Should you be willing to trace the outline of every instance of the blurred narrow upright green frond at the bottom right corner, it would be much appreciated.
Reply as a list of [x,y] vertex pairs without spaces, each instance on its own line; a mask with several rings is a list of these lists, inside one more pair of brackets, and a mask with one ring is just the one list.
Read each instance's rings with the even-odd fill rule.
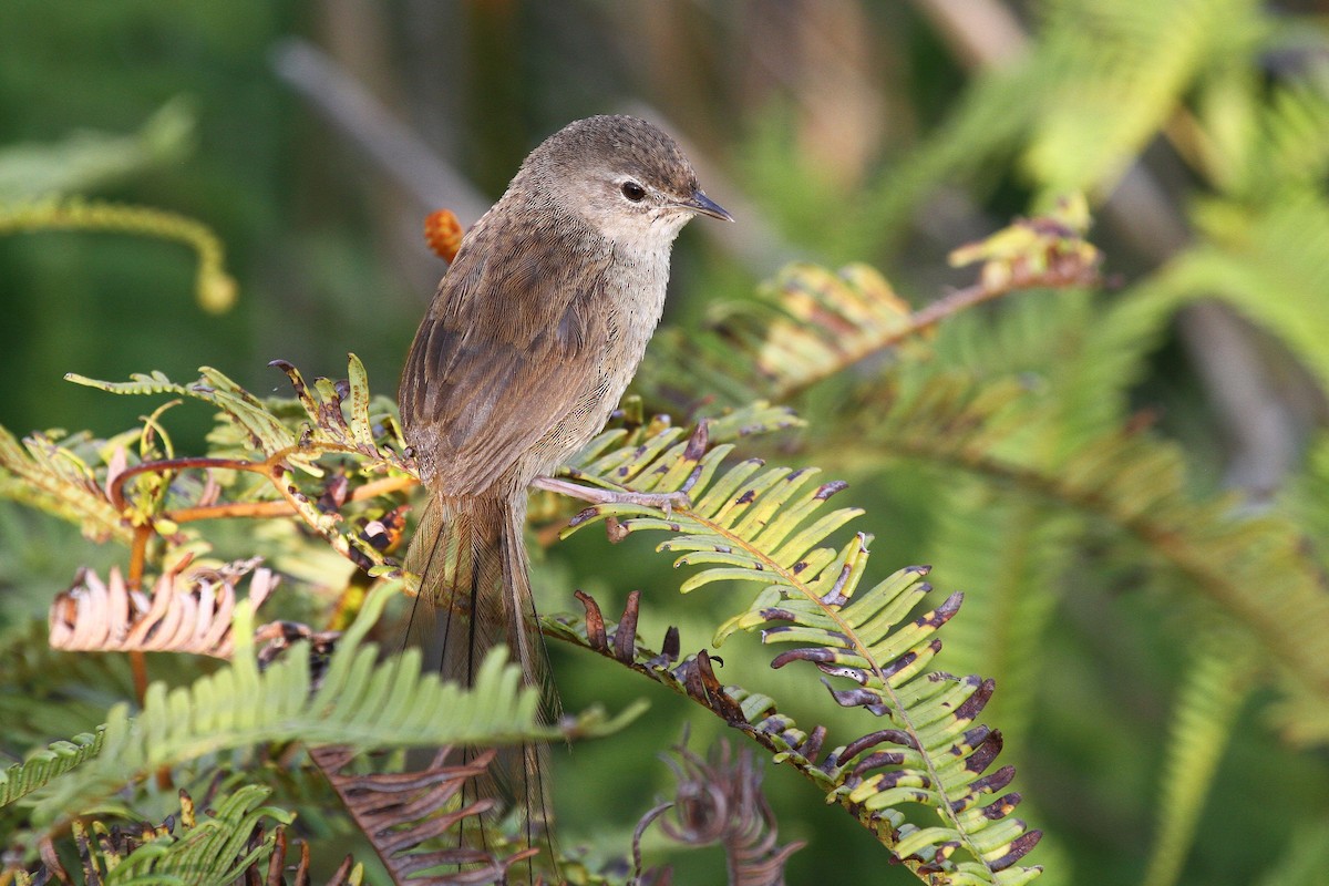
[[1229,632],[1215,631],[1197,644],[1172,715],[1159,824],[1144,886],[1177,882],[1204,797],[1255,683],[1257,664],[1244,638]]

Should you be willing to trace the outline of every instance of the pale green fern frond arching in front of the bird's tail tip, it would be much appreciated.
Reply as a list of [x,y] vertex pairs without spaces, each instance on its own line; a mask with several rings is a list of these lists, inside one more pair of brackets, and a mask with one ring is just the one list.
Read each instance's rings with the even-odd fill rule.
[[380,662],[376,647],[364,638],[397,590],[384,584],[368,596],[360,616],[320,667],[316,685],[307,643],[259,668],[251,607],[237,604],[231,664],[175,689],[153,683],[137,716],[125,704],[112,708],[102,753],[53,780],[35,820],[58,820],[149,772],[255,743],[489,747],[603,735],[639,712],[629,709],[607,721],[593,709],[558,727],[542,725],[536,713],[538,693],[521,684],[520,669],[508,664],[501,647],[485,659],[470,689],[421,673],[413,650]]

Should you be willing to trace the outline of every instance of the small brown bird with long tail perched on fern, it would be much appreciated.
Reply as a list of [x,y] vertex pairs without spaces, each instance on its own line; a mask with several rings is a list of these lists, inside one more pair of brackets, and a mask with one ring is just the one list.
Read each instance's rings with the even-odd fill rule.
[[[526,491],[618,404],[661,319],[674,238],[698,214],[734,221],[672,138],[633,117],[590,117],[536,147],[462,239],[399,395],[432,497],[408,567],[433,607],[427,648],[444,677],[469,684],[506,642],[554,716]],[[526,749],[520,769],[509,793],[544,817],[538,754]]]

